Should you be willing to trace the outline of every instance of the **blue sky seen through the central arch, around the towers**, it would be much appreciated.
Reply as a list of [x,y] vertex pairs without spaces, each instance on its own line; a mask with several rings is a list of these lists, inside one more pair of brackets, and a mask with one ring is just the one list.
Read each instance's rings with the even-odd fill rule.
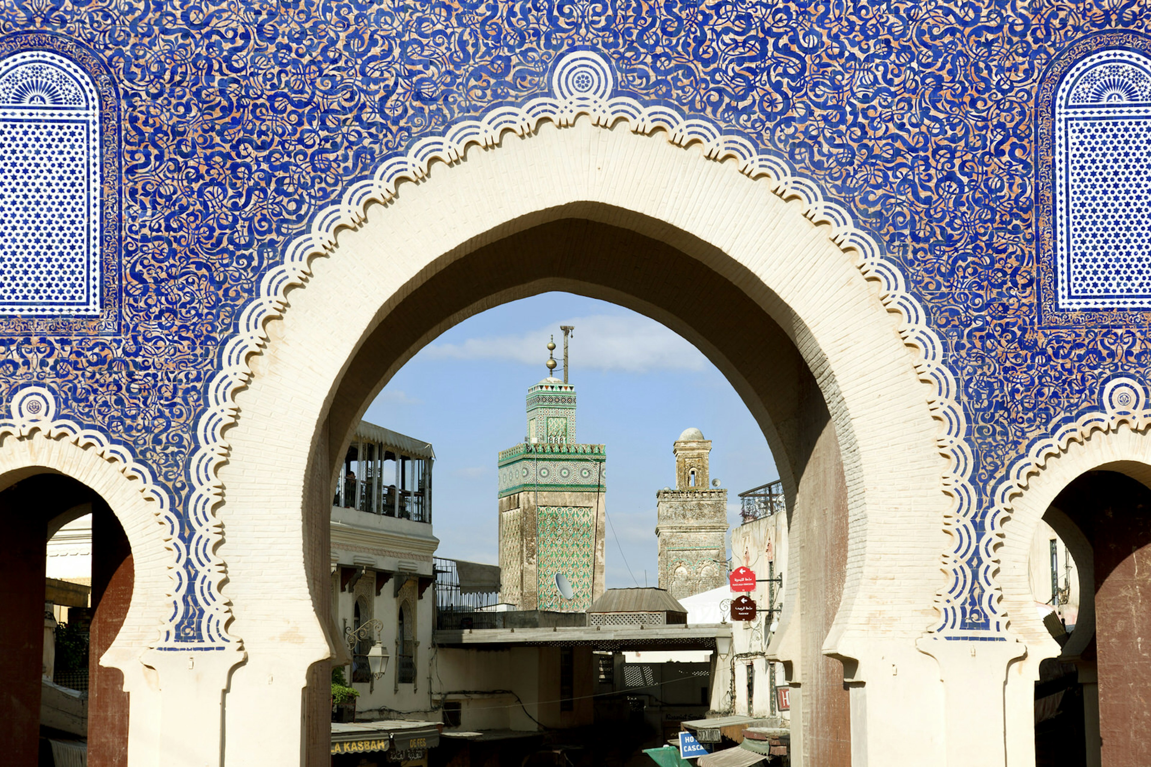
[[643,585],[647,570],[656,585],[655,493],[674,485],[671,446],[684,429],[712,440],[711,476],[727,488],[733,524],[737,494],[777,477],[763,432],[731,384],[662,324],[571,293],[504,304],[424,347],[365,419],[435,447],[439,555],[496,563],[496,453],[524,439],[524,396],[547,375],[552,333],[562,359],[562,324],[576,327],[578,439],[608,448],[607,584]]

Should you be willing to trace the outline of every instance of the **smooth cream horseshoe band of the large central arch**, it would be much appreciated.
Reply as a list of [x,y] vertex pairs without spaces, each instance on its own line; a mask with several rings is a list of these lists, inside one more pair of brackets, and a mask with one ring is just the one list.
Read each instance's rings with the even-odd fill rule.
[[[310,649],[303,654],[326,654],[299,555],[306,536],[295,522],[285,528],[282,514],[315,492],[305,476],[315,440],[346,439],[323,429],[364,339],[397,302],[477,248],[559,217],[580,217],[638,231],[703,262],[785,329],[829,405],[847,473],[847,585],[826,649],[860,659],[870,654],[872,641],[898,638],[906,644],[900,661],[908,676],[920,669],[931,677],[931,661],[912,642],[932,622],[944,581],[939,553],[951,501],[943,492],[944,429],[933,417],[940,396],[920,381],[930,374],[916,370],[920,331],[900,323],[898,307],[885,306],[878,284],[861,273],[859,254],[838,246],[832,229],[813,223],[801,204],[777,190],[733,162],[709,159],[699,146],[581,118],[505,135],[496,147],[473,146],[452,166],[435,164],[419,183],[402,186],[387,205],[369,206],[356,229],[342,230],[330,253],[310,262],[304,286],[287,291],[282,317],[266,322],[267,342],[249,359],[251,377],[236,396],[236,424],[226,432],[230,453],[219,471],[226,540],[219,553],[233,578],[224,590],[236,605],[233,631],[253,657],[253,647],[273,642],[284,622],[300,631],[300,651]],[[464,316],[556,289],[616,300],[663,321],[696,343],[746,397],[739,360],[717,355],[689,323],[646,305],[642,296],[597,286],[595,275],[585,285],[533,284],[478,296],[467,310],[443,317],[391,371]],[[386,381],[373,381],[373,391]],[[369,399],[357,404],[359,413]],[[764,425],[771,439],[771,424]],[[898,545],[898,558],[882,555],[889,545]],[[273,590],[295,612],[266,603],[273,616],[259,607]],[[856,680],[866,678],[867,666],[856,667]],[[887,683],[881,676],[875,687]]]

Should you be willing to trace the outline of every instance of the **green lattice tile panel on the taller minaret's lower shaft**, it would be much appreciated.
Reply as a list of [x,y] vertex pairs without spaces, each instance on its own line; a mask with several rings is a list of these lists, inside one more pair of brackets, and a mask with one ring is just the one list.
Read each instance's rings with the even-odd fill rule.
[[[536,526],[539,609],[587,609],[595,577],[595,509],[540,506]],[[571,583],[571,599],[564,599],[556,588],[556,573],[563,573]]]

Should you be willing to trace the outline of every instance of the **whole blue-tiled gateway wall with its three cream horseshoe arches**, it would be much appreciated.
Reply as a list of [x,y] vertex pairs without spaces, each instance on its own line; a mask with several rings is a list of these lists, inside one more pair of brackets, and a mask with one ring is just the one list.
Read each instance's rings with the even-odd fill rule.
[[[10,764],[44,537],[82,508],[92,764],[327,764],[356,425],[435,335],[546,290],[669,324],[763,428],[792,764],[1151,764],[1149,28],[1110,0],[3,3]],[[426,672],[433,708],[470,689]],[[532,722],[574,722],[538,692]]]

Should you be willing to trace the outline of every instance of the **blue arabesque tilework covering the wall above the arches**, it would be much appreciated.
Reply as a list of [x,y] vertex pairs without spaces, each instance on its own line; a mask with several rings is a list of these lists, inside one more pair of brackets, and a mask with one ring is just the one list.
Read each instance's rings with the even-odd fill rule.
[[[960,381],[983,526],[990,489],[1050,424],[1096,407],[1116,375],[1148,379],[1146,235],[1111,229],[1122,210],[1148,218],[1146,169],[1116,174],[1128,159],[1115,149],[1146,158],[1145,101],[1130,75],[1145,61],[1110,51],[1145,54],[1149,22],[1138,3],[1030,0],[9,0],[0,54],[54,52],[99,101],[87,148],[39,107],[25,109],[38,121],[29,146],[71,146],[60,162],[98,156],[99,172],[52,238],[64,261],[84,253],[83,279],[36,248],[22,250],[29,263],[68,274],[18,274],[17,244],[3,245],[0,396],[31,384],[58,392],[61,417],[129,447],[189,514],[206,382],[287,244],[391,153],[544,93],[557,56],[582,48],[610,62],[616,92],[674,105],[786,159],[901,266]],[[1093,55],[1129,64],[1114,70],[1136,90],[1127,112],[1104,114],[1118,107],[1077,102],[1075,90],[1060,101],[1067,74]],[[0,143],[10,143],[13,105],[30,105],[3,103]],[[1074,115],[1085,120],[1066,122]],[[26,174],[31,151],[5,158]],[[73,205],[60,199],[66,170],[32,170],[36,205]],[[1098,192],[1102,172],[1112,179]],[[0,213],[16,215],[3,184]],[[1076,214],[1070,202],[1097,192],[1098,215]],[[96,222],[96,245],[78,233],[82,220]],[[29,221],[10,237],[35,239]],[[974,573],[984,554],[973,551]],[[180,577],[195,578],[185,567]],[[973,577],[962,588],[963,627],[992,628],[983,586]],[[200,642],[204,605],[183,593],[193,618],[182,639]]]

